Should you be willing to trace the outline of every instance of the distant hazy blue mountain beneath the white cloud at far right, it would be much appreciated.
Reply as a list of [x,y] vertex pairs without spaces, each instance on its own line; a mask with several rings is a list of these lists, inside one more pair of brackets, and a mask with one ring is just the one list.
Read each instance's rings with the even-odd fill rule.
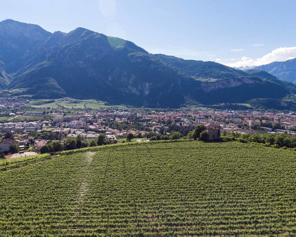
[[273,62],[266,65],[258,66],[255,70],[266,71],[278,79],[289,81],[296,84],[296,58],[285,62]]

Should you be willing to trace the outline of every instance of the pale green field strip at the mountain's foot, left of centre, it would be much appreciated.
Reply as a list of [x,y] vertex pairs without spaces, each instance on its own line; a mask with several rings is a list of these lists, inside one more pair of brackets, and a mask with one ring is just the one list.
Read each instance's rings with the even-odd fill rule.
[[40,100],[30,100],[27,106],[32,107],[43,107],[43,108],[58,108],[64,107],[68,109],[86,109],[86,108],[126,108],[124,105],[109,105],[100,100],[76,100],[71,98],[62,99],[40,99]]

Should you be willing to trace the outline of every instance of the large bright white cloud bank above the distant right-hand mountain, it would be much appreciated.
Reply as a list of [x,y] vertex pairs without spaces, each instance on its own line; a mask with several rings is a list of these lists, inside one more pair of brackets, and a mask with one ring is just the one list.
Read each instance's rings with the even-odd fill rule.
[[268,53],[260,58],[248,58],[242,57],[240,61],[234,63],[225,63],[229,67],[245,67],[245,66],[260,66],[275,61],[286,61],[296,57],[296,47],[280,47],[272,50],[271,53]]

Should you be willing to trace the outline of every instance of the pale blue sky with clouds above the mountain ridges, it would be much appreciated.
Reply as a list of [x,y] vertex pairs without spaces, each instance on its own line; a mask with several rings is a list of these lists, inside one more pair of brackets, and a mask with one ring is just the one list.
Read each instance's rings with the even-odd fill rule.
[[294,0],[6,0],[0,21],[84,27],[151,53],[245,66],[296,57],[295,9]]

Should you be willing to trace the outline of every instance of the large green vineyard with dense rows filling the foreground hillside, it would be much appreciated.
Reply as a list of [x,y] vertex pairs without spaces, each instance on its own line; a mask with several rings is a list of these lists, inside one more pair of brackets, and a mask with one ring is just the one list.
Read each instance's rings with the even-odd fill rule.
[[143,142],[20,162],[0,171],[0,236],[296,234],[292,150]]

